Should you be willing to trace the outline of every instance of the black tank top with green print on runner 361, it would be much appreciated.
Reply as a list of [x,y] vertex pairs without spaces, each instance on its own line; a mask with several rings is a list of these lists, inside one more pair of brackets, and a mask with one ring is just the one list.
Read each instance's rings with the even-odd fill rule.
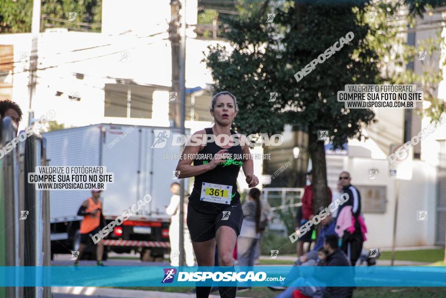
[[[213,134],[212,128],[210,127],[205,128],[205,131],[207,135]],[[231,135],[236,135],[234,130],[231,130]],[[238,137],[237,139],[240,140]],[[217,146],[215,141],[212,143],[208,142],[199,154],[211,154],[213,156],[221,149],[224,148]],[[208,214],[218,214],[229,206],[228,204],[200,201],[201,186],[203,182],[232,186],[231,205],[240,204],[240,194],[237,191],[237,177],[243,164],[242,147],[240,144],[237,146],[233,145],[228,148],[226,154],[228,153],[232,155],[233,159],[227,159],[226,162],[220,162],[214,169],[195,176],[194,189],[192,190],[191,196],[189,196],[189,204],[196,211]],[[198,157],[199,158],[194,159],[194,165],[201,165],[211,161],[211,159],[203,159],[201,156]]]

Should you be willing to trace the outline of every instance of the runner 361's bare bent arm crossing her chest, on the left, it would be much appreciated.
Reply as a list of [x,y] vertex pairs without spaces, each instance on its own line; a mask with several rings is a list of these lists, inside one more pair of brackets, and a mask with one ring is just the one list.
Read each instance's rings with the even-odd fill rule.
[[[205,130],[197,131],[194,135],[198,135],[198,138],[200,141],[204,136],[206,135]],[[196,137],[197,139],[197,137]],[[200,143],[201,144],[201,143]],[[194,161],[194,156],[198,152],[200,152],[201,145],[200,144],[194,144],[194,145],[187,145],[185,146],[182,154],[181,159],[178,162],[178,165],[176,166],[176,171],[179,171],[178,178],[188,178],[188,177],[194,177],[198,176],[200,174],[203,174],[209,170],[214,169],[217,164],[221,161],[224,161],[224,159],[215,159],[213,158],[209,163],[206,164],[200,164],[200,165],[192,165],[191,163]],[[217,154],[223,154],[226,153],[228,149],[223,149],[217,152]]]

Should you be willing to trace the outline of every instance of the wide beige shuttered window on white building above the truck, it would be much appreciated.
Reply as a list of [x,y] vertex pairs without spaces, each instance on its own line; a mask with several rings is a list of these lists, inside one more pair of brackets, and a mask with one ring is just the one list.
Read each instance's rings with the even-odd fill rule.
[[105,84],[105,117],[152,118],[154,88],[130,84]]

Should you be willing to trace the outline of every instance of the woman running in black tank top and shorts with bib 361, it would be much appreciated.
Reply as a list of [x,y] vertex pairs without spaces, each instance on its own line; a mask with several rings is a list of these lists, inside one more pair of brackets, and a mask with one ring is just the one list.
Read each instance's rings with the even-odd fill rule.
[[[199,141],[188,143],[176,168],[178,178],[195,177],[194,189],[189,197],[187,224],[198,266],[215,265],[216,244],[218,266],[234,266],[233,252],[243,221],[237,191],[240,167],[243,168],[248,187],[258,184],[253,174],[254,164],[249,155],[249,146],[244,145],[249,143],[245,136],[231,129],[237,112],[237,100],[233,94],[227,91],[215,94],[210,108],[214,125],[192,136],[191,140]],[[212,136],[214,141],[209,140]],[[223,154],[231,156],[226,159],[218,156]],[[206,159],[209,156],[213,158]],[[208,297],[210,289],[196,287],[197,297]],[[235,297],[236,290],[235,286],[218,287],[221,297]]]

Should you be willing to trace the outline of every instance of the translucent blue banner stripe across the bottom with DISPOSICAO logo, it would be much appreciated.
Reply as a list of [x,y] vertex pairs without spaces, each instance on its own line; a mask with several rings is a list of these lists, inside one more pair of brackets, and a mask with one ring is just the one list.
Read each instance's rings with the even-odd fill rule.
[[196,285],[445,287],[446,267],[0,267],[2,287]]

